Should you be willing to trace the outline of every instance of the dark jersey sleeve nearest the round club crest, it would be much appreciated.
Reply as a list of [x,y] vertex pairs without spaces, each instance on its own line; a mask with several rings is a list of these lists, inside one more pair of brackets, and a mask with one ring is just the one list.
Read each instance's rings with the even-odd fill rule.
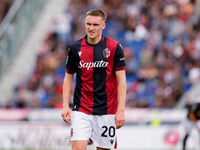
[[121,44],[117,44],[114,56],[114,70],[126,70],[126,63],[124,58],[124,51]]

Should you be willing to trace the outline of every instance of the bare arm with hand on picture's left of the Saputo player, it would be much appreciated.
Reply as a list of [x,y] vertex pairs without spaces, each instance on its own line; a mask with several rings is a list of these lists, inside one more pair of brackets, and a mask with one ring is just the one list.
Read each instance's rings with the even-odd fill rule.
[[69,107],[69,99],[72,93],[73,76],[74,74],[66,72],[63,82],[63,110],[61,116],[63,120],[67,123],[71,121],[71,110]]

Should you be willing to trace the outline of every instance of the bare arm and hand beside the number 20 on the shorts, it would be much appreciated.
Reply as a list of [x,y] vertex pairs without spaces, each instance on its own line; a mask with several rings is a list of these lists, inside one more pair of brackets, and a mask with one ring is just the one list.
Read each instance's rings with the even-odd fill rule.
[[115,115],[116,128],[119,129],[125,124],[125,100],[126,100],[126,74],[125,70],[115,71],[118,87],[118,107]]

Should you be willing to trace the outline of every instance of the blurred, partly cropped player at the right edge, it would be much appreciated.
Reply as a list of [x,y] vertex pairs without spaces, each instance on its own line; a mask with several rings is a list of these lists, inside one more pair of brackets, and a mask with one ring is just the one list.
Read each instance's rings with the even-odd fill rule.
[[199,149],[199,132],[200,132],[200,127],[199,127],[199,120],[200,120],[200,103],[198,102],[193,102],[192,104],[190,104],[190,106],[188,106],[188,114],[187,114],[187,118],[184,122],[184,127],[185,127],[185,131],[186,134],[183,138],[183,150],[186,149],[186,141],[191,133],[191,131],[193,129],[196,129],[196,131],[198,132],[198,138],[196,137],[195,140],[193,141],[195,148]]

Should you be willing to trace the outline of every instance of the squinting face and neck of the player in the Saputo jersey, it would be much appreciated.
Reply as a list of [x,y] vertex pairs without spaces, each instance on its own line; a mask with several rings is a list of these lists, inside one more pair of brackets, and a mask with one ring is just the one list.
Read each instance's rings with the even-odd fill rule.
[[100,16],[87,16],[85,21],[88,42],[96,44],[101,40],[102,31],[106,24]]

